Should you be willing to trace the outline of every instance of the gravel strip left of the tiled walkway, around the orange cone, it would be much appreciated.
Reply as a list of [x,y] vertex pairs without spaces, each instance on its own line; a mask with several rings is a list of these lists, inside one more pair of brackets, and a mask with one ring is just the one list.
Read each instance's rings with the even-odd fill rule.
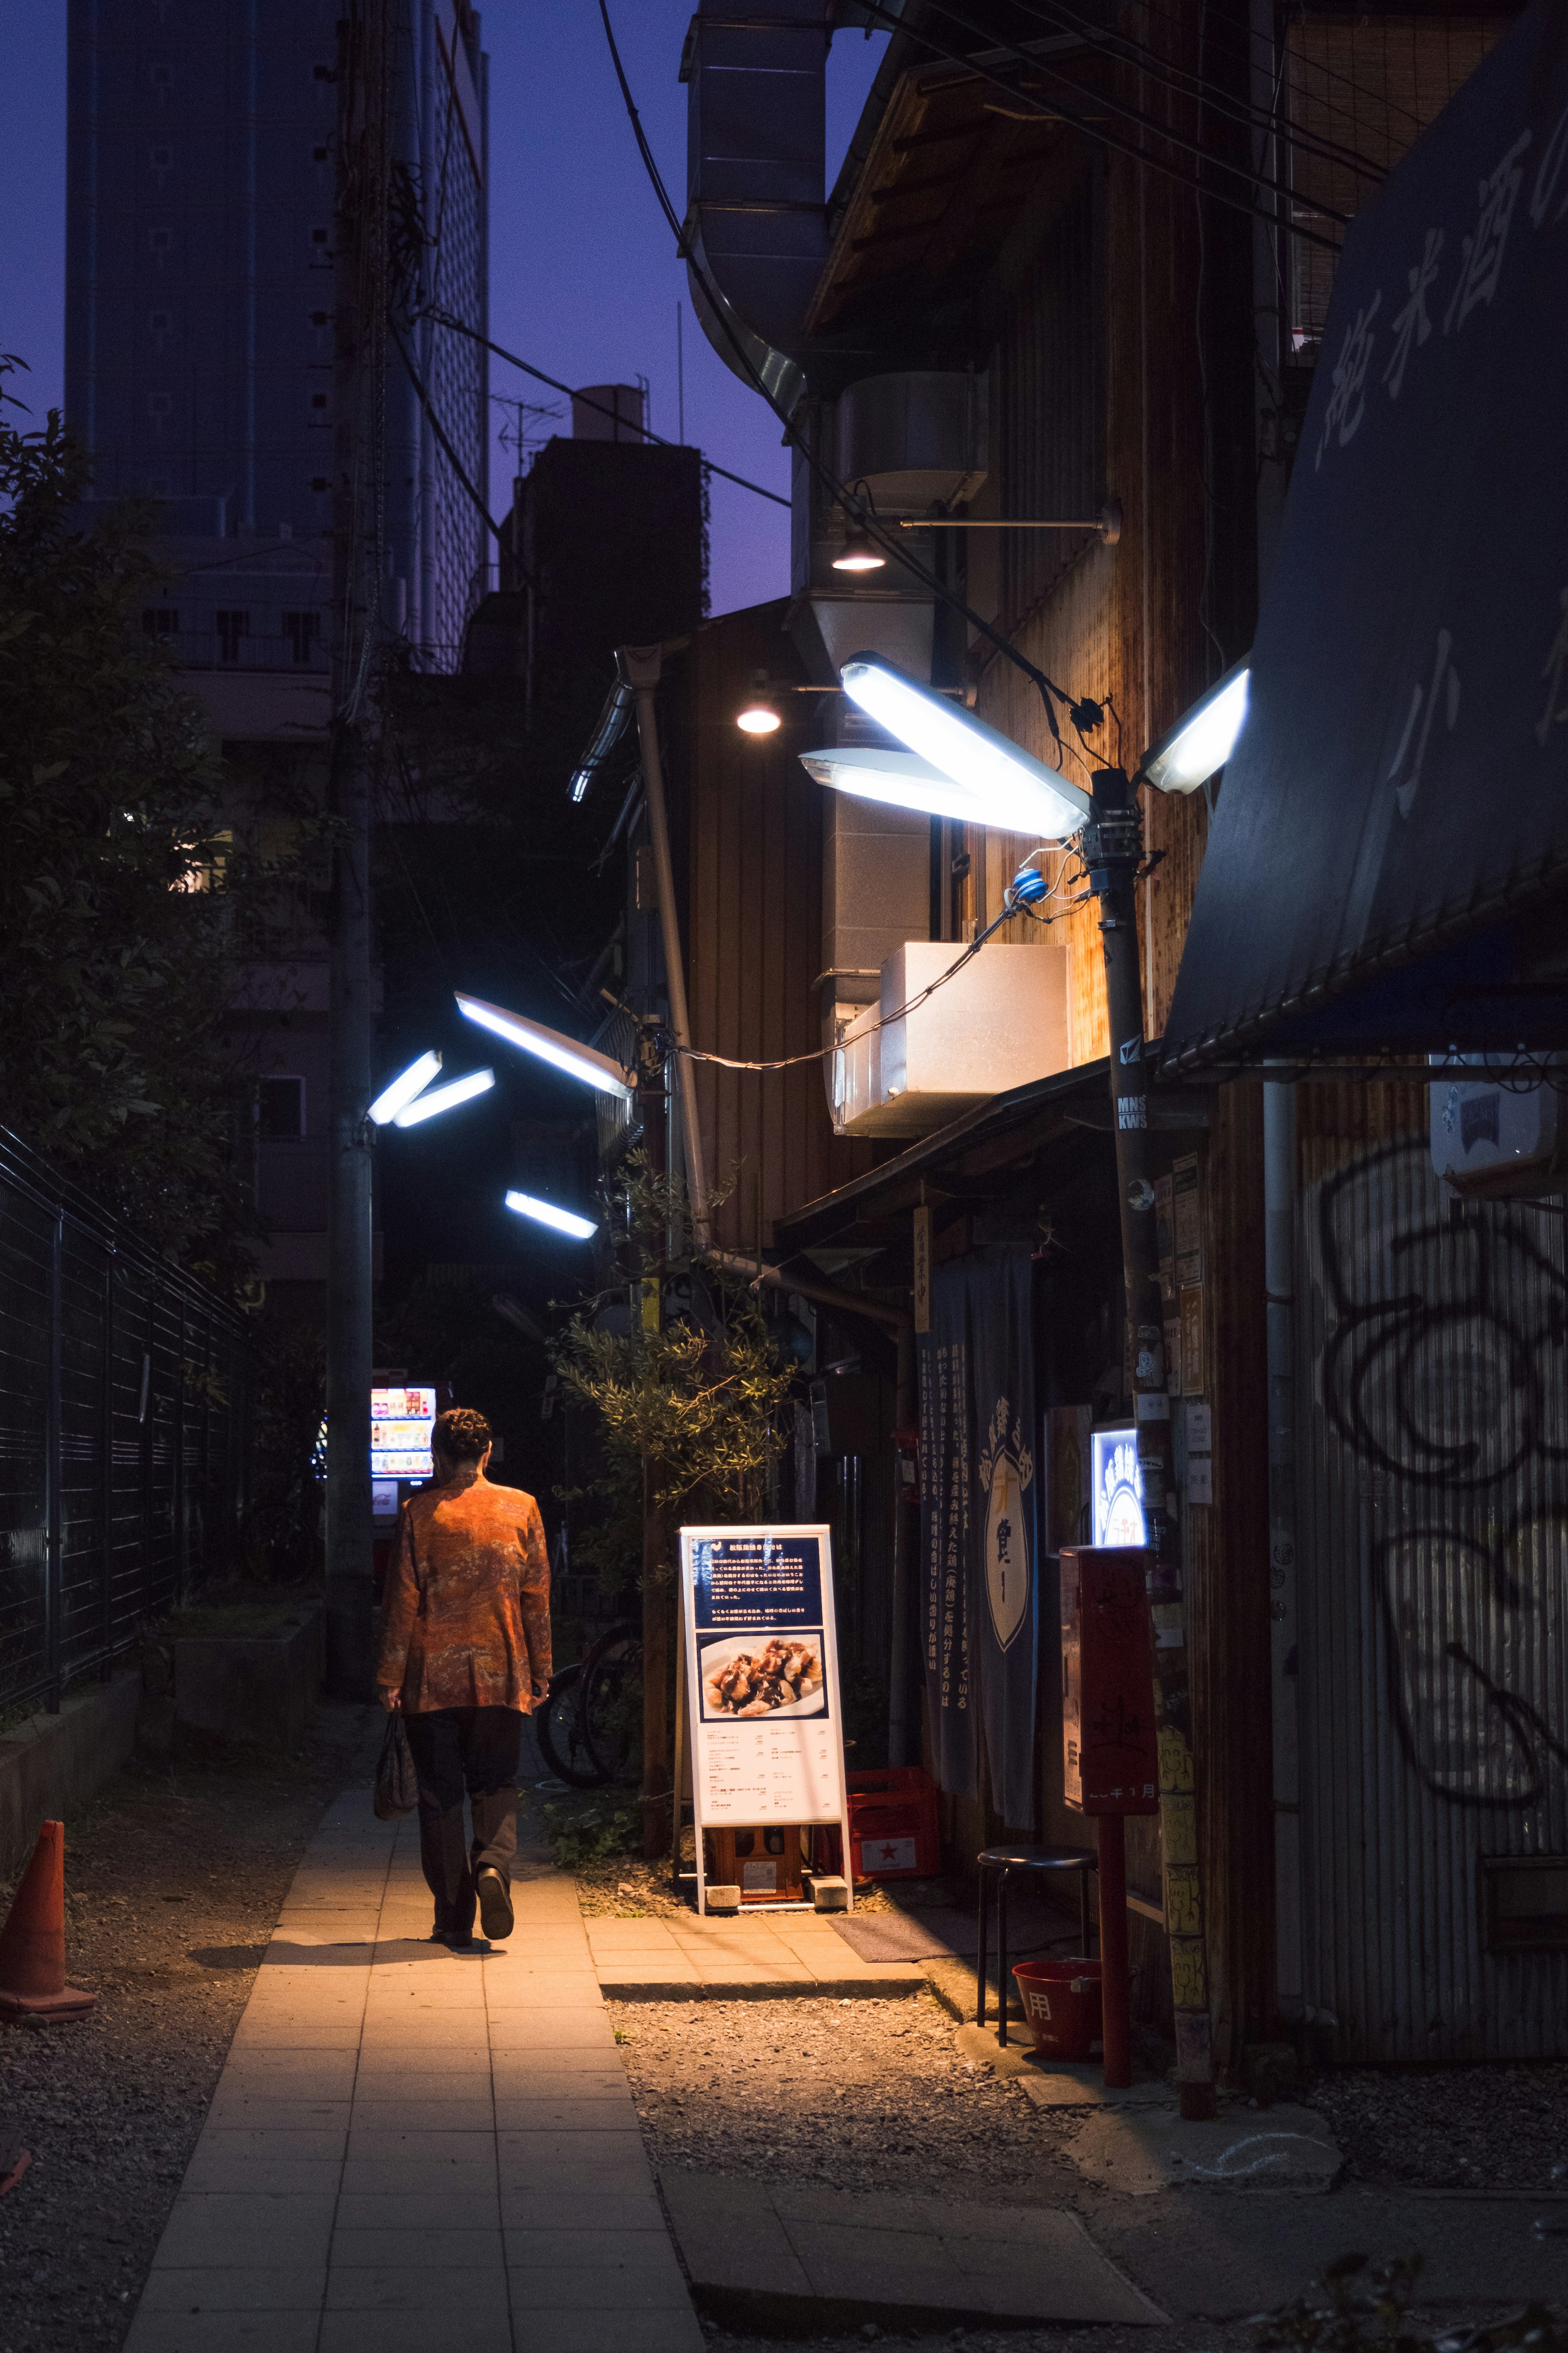
[[[296,1755],[132,1767],[66,1824],[75,2026],[0,2033],[0,2353],[118,2346],[294,1866],[376,1720],[322,1708]],[[12,1887],[0,1882],[0,1918]]]

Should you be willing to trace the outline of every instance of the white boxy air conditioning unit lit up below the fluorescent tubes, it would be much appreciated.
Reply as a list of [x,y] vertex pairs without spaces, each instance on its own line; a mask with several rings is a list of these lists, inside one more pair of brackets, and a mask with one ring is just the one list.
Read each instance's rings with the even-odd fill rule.
[[[1067,951],[994,941],[961,969],[952,939],[910,939],[872,1005],[837,1005],[825,1061],[839,1136],[924,1136],[1072,1059]],[[924,1005],[919,998],[945,972]]]

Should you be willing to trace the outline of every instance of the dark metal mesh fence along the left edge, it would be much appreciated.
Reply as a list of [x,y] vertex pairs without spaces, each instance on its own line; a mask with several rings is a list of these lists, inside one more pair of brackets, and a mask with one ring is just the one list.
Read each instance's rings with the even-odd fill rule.
[[0,1129],[0,1706],[237,1565],[247,1332]]

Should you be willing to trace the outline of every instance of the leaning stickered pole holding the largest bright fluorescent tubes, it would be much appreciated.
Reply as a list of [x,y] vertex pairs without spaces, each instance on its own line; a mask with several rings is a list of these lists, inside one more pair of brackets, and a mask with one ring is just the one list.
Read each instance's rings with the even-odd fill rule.
[[1175,2082],[1187,2120],[1215,2113],[1208,2024],[1208,1960],[1197,1849],[1197,1772],[1192,1762],[1192,1682],[1187,1609],[1171,1464],[1171,1393],[1166,1388],[1159,1240],[1154,1235],[1154,1165],[1138,974],[1135,878],[1143,864],[1138,795],[1119,767],[1093,779],[1093,812],[1079,835],[1088,887],[1100,901],[1105,1002],[1110,1012],[1110,1087],[1121,1207],[1121,1271],[1133,1334],[1133,1409],[1138,1471],[1150,1546],[1150,1619],[1154,1725],[1159,1739],[1159,1842],[1175,2002]]

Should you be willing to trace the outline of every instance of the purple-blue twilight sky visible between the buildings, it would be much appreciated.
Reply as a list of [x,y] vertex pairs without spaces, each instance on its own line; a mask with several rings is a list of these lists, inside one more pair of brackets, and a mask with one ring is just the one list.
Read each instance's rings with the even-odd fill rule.
[[[129,5],[129,0],[122,0]],[[691,0],[611,0],[621,54],[677,209],[686,198],[686,92],[677,82]],[[827,181],[839,167],[886,38],[842,33],[827,66]],[[649,379],[656,433],[675,438],[675,306],[684,271],[642,172],[595,0],[494,0],[484,9],[491,136],[491,334],[567,384]],[[66,0],[0,0],[0,351],[33,374],[35,416],[63,391]],[[686,440],[722,466],[788,492],[778,426],[731,376],[686,306]],[[491,391],[550,400],[491,362]],[[505,412],[496,409],[496,428]],[[538,431],[569,431],[543,424]],[[512,456],[491,456],[491,511]],[[788,515],[712,485],[712,609],[788,588]]]

